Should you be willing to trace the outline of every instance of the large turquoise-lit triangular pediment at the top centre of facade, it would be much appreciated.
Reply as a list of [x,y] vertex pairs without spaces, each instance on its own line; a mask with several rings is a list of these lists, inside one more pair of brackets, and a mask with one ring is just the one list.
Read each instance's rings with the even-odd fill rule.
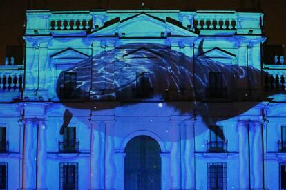
[[187,36],[197,37],[192,30],[187,30],[182,25],[175,25],[158,17],[154,17],[144,12],[135,14],[120,21],[117,19],[90,33],[88,36],[119,36],[122,38],[135,37],[167,37],[167,36]]

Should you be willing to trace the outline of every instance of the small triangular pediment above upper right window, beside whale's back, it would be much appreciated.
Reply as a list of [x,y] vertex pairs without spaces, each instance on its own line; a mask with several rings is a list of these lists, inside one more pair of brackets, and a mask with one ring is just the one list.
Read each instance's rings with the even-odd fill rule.
[[227,52],[226,50],[222,50],[219,47],[215,47],[211,50],[208,50],[207,52],[198,55],[198,58],[211,59],[216,62],[230,64],[233,59],[236,58],[236,55],[232,54],[231,52]]

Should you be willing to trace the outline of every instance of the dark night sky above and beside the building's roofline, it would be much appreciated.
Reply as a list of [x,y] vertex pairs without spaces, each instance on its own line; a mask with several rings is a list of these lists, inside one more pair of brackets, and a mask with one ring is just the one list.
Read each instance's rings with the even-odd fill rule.
[[[0,0],[0,63],[5,45],[22,45],[25,10],[142,9],[142,0]],[[238,10],[265,13],[267,44],[286,45],[286,0],[144,0],[144,8],[175,10]],[[286,50],[285,50],[286,54]]]

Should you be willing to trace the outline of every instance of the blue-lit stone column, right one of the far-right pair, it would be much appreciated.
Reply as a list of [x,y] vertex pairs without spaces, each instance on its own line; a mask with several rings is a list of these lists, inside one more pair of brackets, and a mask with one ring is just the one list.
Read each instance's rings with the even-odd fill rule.
[[251,173],[254,184],[251,187],[254,189],[264,189],[263,185],[263,135],[262,122],[260,120],[252,120],[250,122],[253,135],[251,139]]

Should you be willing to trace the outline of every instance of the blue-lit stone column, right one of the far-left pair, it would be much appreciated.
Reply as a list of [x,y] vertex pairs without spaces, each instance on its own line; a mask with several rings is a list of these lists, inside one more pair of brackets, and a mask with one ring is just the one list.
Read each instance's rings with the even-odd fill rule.
[[44,120],[37,122],[37,189],[44,190],[46,188],[46,124]]

